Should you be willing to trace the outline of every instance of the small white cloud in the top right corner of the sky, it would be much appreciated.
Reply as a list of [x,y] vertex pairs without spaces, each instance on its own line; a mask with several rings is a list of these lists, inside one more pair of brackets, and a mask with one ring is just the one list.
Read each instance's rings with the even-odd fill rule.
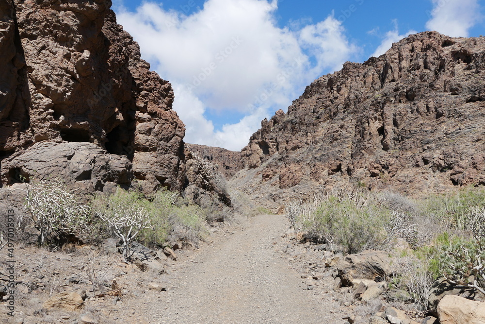
[[481,19],[478,0],[432,0],[433,10],[426,28],[452,37],[468,37],[469,29]]

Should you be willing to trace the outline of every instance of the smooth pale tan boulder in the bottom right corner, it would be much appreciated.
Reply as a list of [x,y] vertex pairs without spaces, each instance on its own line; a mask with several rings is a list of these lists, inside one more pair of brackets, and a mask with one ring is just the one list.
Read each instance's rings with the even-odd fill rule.
[[444,296],[438,304],[437,313],[441,324],[485,324],[485,302],[460,296]]

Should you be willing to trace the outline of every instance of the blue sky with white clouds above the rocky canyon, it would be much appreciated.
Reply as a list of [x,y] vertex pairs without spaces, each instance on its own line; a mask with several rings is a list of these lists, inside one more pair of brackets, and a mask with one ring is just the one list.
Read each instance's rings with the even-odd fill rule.
[[485,0],[113,0],[142,58],[172,83],[184,141],[240,151],[264,118],[346,61],[409,34],[485,34]]

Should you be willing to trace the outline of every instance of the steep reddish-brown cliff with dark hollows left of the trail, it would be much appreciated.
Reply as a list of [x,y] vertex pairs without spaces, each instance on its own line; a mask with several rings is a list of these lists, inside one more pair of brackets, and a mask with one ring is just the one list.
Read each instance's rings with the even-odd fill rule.
[[[0,186],[18,181],[18,163],[35,158],[26,149],[48,141],[57,151],[90,143],[119,156],[146,191],[182,188],[185,127],[172,87],[140,59],[110,6],[1,1]],[[35,147],[41,157],[48,149]]]

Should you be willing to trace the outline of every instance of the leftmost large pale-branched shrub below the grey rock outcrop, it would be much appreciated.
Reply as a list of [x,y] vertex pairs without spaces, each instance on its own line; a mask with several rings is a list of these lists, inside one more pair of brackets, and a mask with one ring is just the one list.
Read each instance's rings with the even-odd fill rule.
[[80,204],[60,178],[38,180],[31,178],[24,207],[40,231],[39,242],[45,244],[53,233],[82,235],[89,232],[90,208]]

